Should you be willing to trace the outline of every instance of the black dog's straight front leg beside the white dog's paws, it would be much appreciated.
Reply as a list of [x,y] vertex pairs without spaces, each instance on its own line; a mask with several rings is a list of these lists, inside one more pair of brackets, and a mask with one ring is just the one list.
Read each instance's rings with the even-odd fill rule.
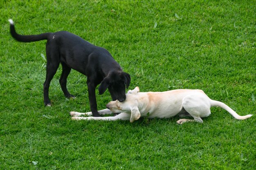
[[94,117],[100,117],[98,110],[97,110],[97,102],[96,102],[96,95],[95,95],[96,86],[89,81],[87,81],[87,86],[88,86],[90,108],[92,111],[92,115]]

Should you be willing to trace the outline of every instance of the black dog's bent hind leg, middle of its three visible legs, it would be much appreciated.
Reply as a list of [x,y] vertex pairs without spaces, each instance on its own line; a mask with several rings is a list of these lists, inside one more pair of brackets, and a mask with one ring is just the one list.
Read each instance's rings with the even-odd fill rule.
[[74,95],[71,95],[68,91],[67,91],[67,76],[70,74],[71,68],[67,66],[67,64],[65,63],[61,63],[62,65],[62,73],[61,73],[61,78],[59,79],[59,82],[61,84],[61,89],[65,95],[65,97],[72,97],[72,98],[76,98]]

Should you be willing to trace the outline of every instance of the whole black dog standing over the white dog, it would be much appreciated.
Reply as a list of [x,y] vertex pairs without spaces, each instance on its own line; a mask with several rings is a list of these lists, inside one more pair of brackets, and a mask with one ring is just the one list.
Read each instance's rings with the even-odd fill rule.
[[90,108],[94,117],[98,117],[95,89],[98,84],[99,94],[108,88],[112,100],[123,102],[126,99],[125,87],[130,85],[130,75],[122,71],[121,66],[112,55],[99,46],[94,46],[77,35],[67,31],[56,33],[42,33],[39,35],[19,35],[14,29],[13,20],[10,22],[10,31],[14,39],[20,42],[34,42],[47,40],[46,43],[46,79],[44,83],[44,103],[51,106],[49,100],[49,85],[59,64],[62,73],[59,82],[66,97],[73,97],[67,91],[67,76],[71,68],[87,76]]

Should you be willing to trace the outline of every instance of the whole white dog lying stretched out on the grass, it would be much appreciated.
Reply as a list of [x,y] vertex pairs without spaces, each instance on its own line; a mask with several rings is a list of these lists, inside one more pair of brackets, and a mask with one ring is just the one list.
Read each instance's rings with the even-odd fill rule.
[[139,87],[129,90],[126,93],[126,100],[109,102],[108,109],[100,110],[99,114],[106,115],[120,113],[113,117],[79,117],[81,115],[92,115],[92,112],[78,113],[70,112],[74,116],[72,119],[80,120],[129,120],[133,122],[139,117],[148,118],[169,118],[175,115],[190,115],[194,119],[180,119],[178,124],[186,121],[197,121],[202,123],[201,117],[207,117],[211,114],[210,108],[219,106],[227,110],[236,119],[242,120],[252,115],[240,116],[229,106],[222,102],[210,99],[202,90],[179,89],[165,92],[139,92]]

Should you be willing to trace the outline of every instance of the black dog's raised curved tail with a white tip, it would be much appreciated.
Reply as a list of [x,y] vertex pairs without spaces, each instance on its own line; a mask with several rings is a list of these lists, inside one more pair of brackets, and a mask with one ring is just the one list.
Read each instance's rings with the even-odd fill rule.
[[49,35],[52,33],[42,33],[39,35],[20,35],[16,33],[15,28],[14,28],[14,23],[13,20],[8,20],[10,22],[10,31],[11,31],[11,36],[20,42],[34,42],[34,41],[40,41],[40,40],[47,40]]

